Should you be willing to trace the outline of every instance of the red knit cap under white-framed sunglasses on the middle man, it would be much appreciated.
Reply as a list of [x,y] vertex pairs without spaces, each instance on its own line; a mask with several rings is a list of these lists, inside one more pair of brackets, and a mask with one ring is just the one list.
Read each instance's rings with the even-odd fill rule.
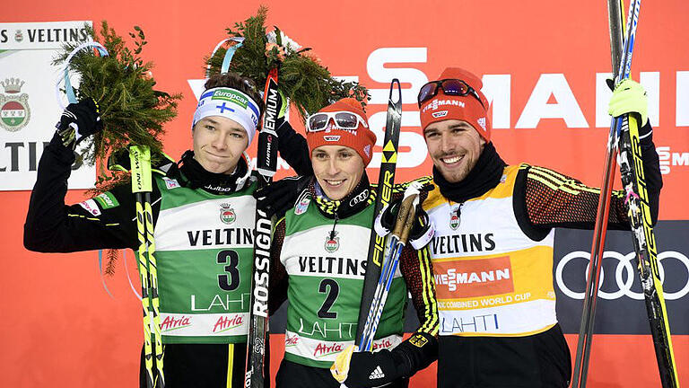
[[[366,117],[366,113],[362,109],[362,103],[353,98],[344,98],[318,110],[318,112],[334,111],[356,113],[366,121],[367,126],[369,125],[369,118]],[[376,134],[370,128],[364,127],[361,122],[358,128],[352,130],[336,128],[331,119],[325,130],[319,132],[307,131],[306,141],[309,144],[309,153],[321,145],[344,145],[350,147],[362,157],[363,165],[366,166],[371,162],[373,145],[376,144]]]

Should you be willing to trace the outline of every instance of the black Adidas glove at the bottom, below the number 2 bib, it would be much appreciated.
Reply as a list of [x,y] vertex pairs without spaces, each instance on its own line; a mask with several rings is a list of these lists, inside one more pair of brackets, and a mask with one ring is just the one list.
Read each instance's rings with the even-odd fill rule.
[[416,332],[392,350],[353,353],[344,384],[359,388],[392,383],[414,375],[437,357],[438,340],[430,334]]

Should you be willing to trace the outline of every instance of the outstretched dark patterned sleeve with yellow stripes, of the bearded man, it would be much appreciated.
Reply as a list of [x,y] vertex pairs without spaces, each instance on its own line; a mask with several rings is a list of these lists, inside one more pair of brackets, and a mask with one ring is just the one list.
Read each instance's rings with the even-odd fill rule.
[[[658,221],[658,202],[663,186],[658,153],[653,144],[652,128],[640,130],[641,159],[649,195],[650,216]],[[615,168],[617,168],[615,166]],[[514,189],[514,210],[522,230],[541,240],[553,227],[593,229],[596,222],[600,189],[543,167],[523,165]],[[608,228],[630,230],[624,190],[613,191]]]

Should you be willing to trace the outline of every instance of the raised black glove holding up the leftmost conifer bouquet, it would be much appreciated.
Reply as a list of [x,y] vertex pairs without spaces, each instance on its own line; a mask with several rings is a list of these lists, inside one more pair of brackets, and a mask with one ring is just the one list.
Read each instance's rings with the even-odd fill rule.
[[92,98],[86,98],[67,105],[55,127],[62,144],[74,149],[83,138],[103,128],[98,104]]

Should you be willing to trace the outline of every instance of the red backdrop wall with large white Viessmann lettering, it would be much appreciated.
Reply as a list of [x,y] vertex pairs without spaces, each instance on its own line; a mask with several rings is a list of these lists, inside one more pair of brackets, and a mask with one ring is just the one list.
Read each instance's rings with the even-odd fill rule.
[[[185,97],[179,119],[170,123],[165,138],[168,154],[179,156],[191,144],[189,121],[196,106],[188,80],[203,77],[203,57],[223,38],[224,28],[256,13],[258,5],[215,0],[27,2],[5,4],[0,22],[106,19],[121,34],[140,25],[149,41],[144,58],[156,63],[153,75],[159,86]],[[510,102],[501,105],[508,108],[499,112],[498,119],[504,128],[493,129],[502,157],[508,163],[547,165],[598,184],[607,129],[596,128],[596,106],[605,105],[596,99],[596,74],[610,71],[605,1],[354,0],[267,5],[267,25],[277,25],[293,40],[313,48],[333,74],[357,75],[372,89],[387,89],[394,75],[403,82],[423,80],[423,75],[433,78],[445,66],[463,66],[478,75],[509,75],[510,93],[502,95],[509,95]],[[651,77],[658,72],[654,139],[657,146],[669,147],[670,153],[661,220],[689,220],[683,197],[689,189],[689,159],[683,159],[689,152],[689,119],[683,113],[689,110],[689,99],[682,97],[689,93],[689,82],[682,81],[685,73],[678,73],[689,71],[688,15],[685,1],[644,2],[632,66],[637,80],[640,72]],[[376,51],[380,48],[391,49]],[[0,75],[9,76],[2,68]],[[536,102],[536,94],[550,87],[548,80],[563,78],[586,125],[557,118],[528,124],[529,115],[533,116],[533,111],[525,109],[529,99]],[[415,90],[419,86],[403,84]],[[543,102],[563,101],[554,93]],[[385,108],[383,101],[373,102],[370,116]],[[494,102],[494,107],[500,103]],[[405,100],[404,110],[411,121],[403,130],[418,132],[414,101]],[[410,137],[405,144],[403,139],[402,151],[425,152],[419,140]],[[401,169],[401,178],[428,174],[430,166],[426,159]],[[371,172],[377,174],[377,170]],[[107,279],[115,296],[111,298],[101,286],[95,252],[48,255],[24,250],[22,225],[29,195],[28,191],[0,192],[4,218],[0,224],[4,251],[0,260],[0,385],[135,386],[142,337],[140,304],[129,291],[124,266],[120,262],[116,275]],[[67,199],[74,203],[81,198],[82,191],[71,191]],[[680,379],[685,382],[689,382],[688,337],[673,337]],[[576,338],[568,336],[568,340],[575,343]],[[274,363],[282,351],[279,346],[273,349]],[[589,386],[658,386],[650,338],[598,335],[589,375]],[[433,384],[433,368],[414,378],[414,386]]]

